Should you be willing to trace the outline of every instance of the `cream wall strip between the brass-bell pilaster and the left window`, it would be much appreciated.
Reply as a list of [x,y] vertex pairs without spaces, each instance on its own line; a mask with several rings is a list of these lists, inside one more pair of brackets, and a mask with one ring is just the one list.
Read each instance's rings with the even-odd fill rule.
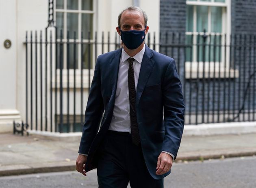
[[[45,0],[16,0],[17,1],[17,109],[20,111],[22,120],[26,114],[26,31],[30,40],[30,32],[40,31],[48,25],[48,1]],[[28,79],[30,81],[30,79]]]

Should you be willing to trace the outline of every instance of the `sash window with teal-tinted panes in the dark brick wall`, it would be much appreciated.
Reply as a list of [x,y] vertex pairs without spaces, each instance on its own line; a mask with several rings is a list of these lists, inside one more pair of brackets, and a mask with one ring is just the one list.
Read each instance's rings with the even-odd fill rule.
[[[186,43],[202,43],[202,36],[198,36],[198,34],[203,35],[205,30],[206,34],[210,36],[207,37],[206,43],[220,45],[224,34],[228,34],[226,28],[226,9],[226,0],[188,0]],[[197,49],[194,45],[192,51],[192,53],[187,51],[186,61],[201,62],[202,46]],[[206,46],[206,51],[209,51],[208,46]],[[221,62],[220,49],[211,47],[210,52],[205,53],[207,61]],[[210,57],[207,57],[208,54],[210,54]]]

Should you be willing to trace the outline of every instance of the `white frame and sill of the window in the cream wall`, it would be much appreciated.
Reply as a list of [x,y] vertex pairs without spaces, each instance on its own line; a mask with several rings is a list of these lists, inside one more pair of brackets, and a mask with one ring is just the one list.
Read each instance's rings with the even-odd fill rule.
[[[80,43],[81,42],[81,21],[82,21],[82,13],[91,13],[93,14],[93,23],[92,23],[92,38],[90,39],[91,43],[95,42],[95,30],[97,30],[97,13],[96,10],[98,9],[98,1],[93,0],[93,10],[92,11],[84,11],[81,10],[81,6],[82,6],[82,1],[78,0],[78,9],[79,10],[68,10],[67,9],[67,0],[63,0],[64,5],[63,5],[63,9],[56,9],[56,1],[54,1],[54,17],[56,18],[56,13],[57,12],[62,12],[63,13],[63,39],[62,41],[64,42],[63,45],[63,69],[62,69],[62,75],[63,75],[63,79],[62,79],[62,83],[63,83],[63,88],[67,88],[67,13],[78,13],[78,38],[76,38],[76,42]],[[56,21],[56,20],[55,20]],[[56,23],[56,22],[55,22]],[[70,35],[70,34],[69,34]],[[61,39],[57,38],[56,39],[57,42],[60,42]],[[88,42],[88,39],[84,39],[82,40],[82,42]],[[69,42],[72,43],[74,42],[74,39],[69,39]],[[78,67],[76,68],[76,73],[74,71],[74,68],[69,68],[69,88],[74,88],[74,77],[76,77],[76,89],[80,89],[81,88],[81,79],[82,79],[82,83],[83,83],[83,87],[84,88],[89,88],[89,77],[90,77],[90,81],[93,78],[93,71],[94,71],[94,66],[95,66],[95,51],[92,49],[91,53],[91,62],[92,62],[92,66],[90,67],[90,69],[88,68],[83,68],[83,75],[81,75],[81,45],[78,44],[76,47],[76,51],[78,53]],[[55,54],[55,56],[57,56],[57,54]],[[61,70],[60,68],[56,69],[56,80],[57,80],[57,88],[60,88],[60,75],[61,75]],[[55,83],[54,80],[52,80],[52,83]],[[56,89],[57,89],[56,88]]]

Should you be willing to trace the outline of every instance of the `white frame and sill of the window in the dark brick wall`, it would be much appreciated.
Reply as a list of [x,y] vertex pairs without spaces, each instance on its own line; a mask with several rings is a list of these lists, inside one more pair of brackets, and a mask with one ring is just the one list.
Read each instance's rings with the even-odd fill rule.
[[[203,66],[206,68],[205,69],[205,76],[208,76],[208,70],[209,64],[210,67],[213,67],[215,64],[215,75],[213,74],[213,71],[210,71],[210,77],[219,77],[219,72],[221,72],[220,76],[223,77],[224,72],[227,73],[229,72],[230,64],[229,64],[229,56],[227,54],[230,53],[230,48],[226,48],[226,57],[223,55],[221,56],[220,62],[202,62],[202,61],[197,61],[197,46],[195,45],[197,43],[197,34],[204,34],[204,32],[197,32],[197,25],[195,24],[197,22],[197,6],[208,6],[208,32],[206,32],[207,35],[211,34],[217,34],[221,35],[222,40],[221,40],[221,45],[225,45],[225,41],[223,40],[226,34],[226,44],[230,44],[230,34],[231,34],[231,0],[226,0],[226,2],[214,2],[214,0],[211,1],[200,1],[200,0],[187,0],[186,1],[186,6],[191,5],[193,6],[193,31],[188,32],[186,30],[186,36],[193,34],[193,58],[192,62],[186,61],[186,78],[197,78],[197,66],[199,68],[199,78],[202,77],[203,75]],[[221,32],[220,33],[215,33],[215,32],[209,32],[211,28],[211,14],[210,14],[210,7],[212,6],[220,6],[222,7],[222,27],[221,27]],[[186,23],[187,24],[187,23]],[[224,54],[224,47],[221,47],[221,54]],[[226,58],[226,59],[225,59]],[[225,62],[226,61],[226,68],[225,68]],[[219,68],[220,67],[220,68]],[[190,77],[190,71],[192,72],[192,76]],[[231,70],[231,77],[238,77],[239,73],[238,70]]]

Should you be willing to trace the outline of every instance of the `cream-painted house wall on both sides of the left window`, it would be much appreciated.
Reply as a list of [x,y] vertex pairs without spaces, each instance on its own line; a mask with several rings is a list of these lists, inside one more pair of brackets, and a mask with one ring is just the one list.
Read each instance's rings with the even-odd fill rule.
[[[111,41],[113,41],[119,13],[133,3],[135,3],[134,0],[95,0],[93,25],[98,31],[98,38],[101,37],[102,31],[105,32],[105,37],[107,37],[107,32],[110,32]],[[150,32],[158,34],[160,0],[137,0],[136,3],[139,3],[139,6],[148,14]],[[4,26],[0,29],[0,87],[2,89],[0,92],[0,132],[11,131],[13,120],[25,120],[26,118],[25,34],[28,31],[30,40],[30,31],[33,31],[33,37],[35,37],[35,30],[38,33],[40,30],[44,32],[47,25],[47,0],[0,0],[0,26]],[[10,49],[3,47],[6,38],[12,42]],[[79,90],[77,98],[80,97]],[[85,97],[84,109],[87,103],[86,90]],[[80,103],[80,101],[77,102]],[[65,103],[63,105],[66,106]],[[70,106],[72,111],[73,107]],[[63,111],[65,112],[66,109]],[[76,111],[80,113],[80,105],[77,105]]]

